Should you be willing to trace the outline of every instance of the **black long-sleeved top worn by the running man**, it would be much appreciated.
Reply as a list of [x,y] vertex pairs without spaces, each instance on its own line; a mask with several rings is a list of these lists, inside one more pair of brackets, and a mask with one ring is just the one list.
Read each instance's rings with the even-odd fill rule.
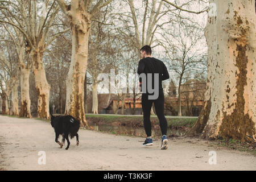
[[[166,65],[164,65],[163,61],[160,61],[154,57],[146,57],[144,59],[139,60],[137,73],[139,75],[141,73],[145,73],[146,76],[147,76],[147,73],[152,73],[153,89],[154,89],[154,73],[159,73],[159,90],[163,90],[162,81],[170,78]],[[142,82],[141,77],[139,78],[139,82]]]

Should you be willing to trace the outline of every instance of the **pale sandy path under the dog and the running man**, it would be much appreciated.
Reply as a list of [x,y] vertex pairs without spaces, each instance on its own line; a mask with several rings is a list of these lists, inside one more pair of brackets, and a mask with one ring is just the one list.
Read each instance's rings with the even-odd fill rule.
[[[79,137],[80,146],[74,138],[65,150],[49,122],[0,115],[0,170],[256,170],[255,156],[206,140],[170,139],[168,150],[160,150],[160,139],[143,147],[139,137],[82,129]],[[38,164],[39,151],[46,164]],[[217,164],[208,163],[209,151],[216,151]]]

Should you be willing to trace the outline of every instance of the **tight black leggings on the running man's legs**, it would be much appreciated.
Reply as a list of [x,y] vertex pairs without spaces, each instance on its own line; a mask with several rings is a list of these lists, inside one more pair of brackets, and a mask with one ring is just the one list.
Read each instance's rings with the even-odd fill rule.
[[151,121],[150,121],[150,112],[152,103],[154,102],[156,115],[158,115],[160,129],[162,135],[167,133],[167,121],[164,117],[164,94],[163,90],[159,90],[159,96],[156,100],[148,100],[148,94],[142,93],[142,110],[143,110],[143,124],[146,131],[147,137],[151,137]]

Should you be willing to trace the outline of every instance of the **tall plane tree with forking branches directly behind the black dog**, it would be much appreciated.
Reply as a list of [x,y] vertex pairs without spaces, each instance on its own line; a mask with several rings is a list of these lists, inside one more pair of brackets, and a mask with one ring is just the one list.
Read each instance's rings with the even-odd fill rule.
[[88,61],[88,39],[94,15],[109,1],[102,0],[57,0],[68,18],[72,30],[72,57],[67,77],[65,114],[79,118],[87,125],[84,111],[84,79]]

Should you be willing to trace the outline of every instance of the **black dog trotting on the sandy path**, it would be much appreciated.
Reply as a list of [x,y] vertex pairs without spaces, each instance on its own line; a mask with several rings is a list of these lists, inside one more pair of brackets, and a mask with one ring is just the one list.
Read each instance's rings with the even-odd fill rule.
[[[51,114],[51,125],[55,130],[55,142],[60,145],[60,148],[63,147],[65,139],[68,142],[68,146],[65,148],[68,150],[69,148],[69,139],[68,136],[70,135],[71,139],[76,136],[76,145],[79,145],[79,135],[77,132],[80,128],[80,121],[72,117],[72,115],[65,115],[65,116],[53,116]],[[58,141],[59,135],[62,135],[62,143]]]

